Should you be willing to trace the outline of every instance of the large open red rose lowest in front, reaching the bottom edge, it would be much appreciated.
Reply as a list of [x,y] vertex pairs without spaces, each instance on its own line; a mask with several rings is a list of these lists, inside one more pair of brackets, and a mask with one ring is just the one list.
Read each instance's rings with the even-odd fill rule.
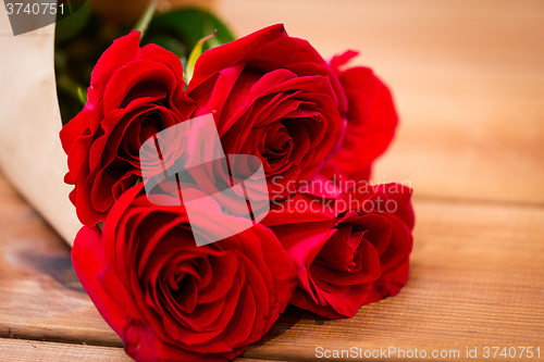
[[259,224],[196,247],[191,230],[221,233],[231,223],[220,225],[205,208],[189,226],[184,207],[154,205],[137,196],[141,188],[115,202],[102,235],[78,233],[79,280],[135,360],[233,359],[284,311],[296,285],[293,261]]

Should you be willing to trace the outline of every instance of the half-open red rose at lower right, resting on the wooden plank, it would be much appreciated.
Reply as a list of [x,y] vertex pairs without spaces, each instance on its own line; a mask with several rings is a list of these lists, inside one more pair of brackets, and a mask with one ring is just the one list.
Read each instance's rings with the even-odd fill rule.
[[293,258],[290,303],[325,317],[353,316],[395,296],[408,279],[411,189],[359,184],[336,198],[296,194],[264,219]]

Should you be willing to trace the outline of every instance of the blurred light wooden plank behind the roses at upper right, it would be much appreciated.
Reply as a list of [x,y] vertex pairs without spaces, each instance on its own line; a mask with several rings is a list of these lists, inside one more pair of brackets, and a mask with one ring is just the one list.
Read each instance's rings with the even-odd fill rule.
[[401,126],[376,182],[422,196],[544,203],[544,3],[223,0],[239,35],[284,23],[331,57],[361,55]]

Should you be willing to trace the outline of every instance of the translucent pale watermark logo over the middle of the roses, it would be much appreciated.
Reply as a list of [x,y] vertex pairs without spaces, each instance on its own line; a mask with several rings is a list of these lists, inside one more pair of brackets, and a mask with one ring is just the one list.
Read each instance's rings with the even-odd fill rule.
[[[262,162],[251,154],[224,154],[212,114],[169,127],[140,147],[146,195],[158,205],[184,205],[197,246],[236,235],[270,211]],[[178,198],[164,195],[178,195]],[[212,219],[214,229],[199,227]]]

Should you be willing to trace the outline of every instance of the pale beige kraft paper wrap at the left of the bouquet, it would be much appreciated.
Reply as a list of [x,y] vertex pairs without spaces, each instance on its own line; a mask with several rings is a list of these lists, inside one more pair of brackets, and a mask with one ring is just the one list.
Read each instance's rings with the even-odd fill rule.
[[66,155],[53,66],[54,24],[13,36],[0,7],[0,168],[69,242],[82,224],[63,182]]

